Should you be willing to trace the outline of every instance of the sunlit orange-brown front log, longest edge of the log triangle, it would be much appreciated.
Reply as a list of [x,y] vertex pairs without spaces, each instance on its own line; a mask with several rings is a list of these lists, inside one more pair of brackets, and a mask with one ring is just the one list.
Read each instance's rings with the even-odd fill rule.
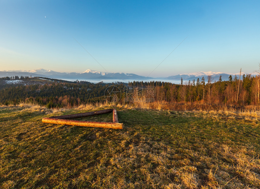
[[43,123],[62,124],[62,125],[75,125],[80,127],[100,127],[111,129],[123,129],[122,123],[110,123],[110,122],[97,122],[97,121],[76,121],[69,119],[57,119],[57,118],[42,118]]

